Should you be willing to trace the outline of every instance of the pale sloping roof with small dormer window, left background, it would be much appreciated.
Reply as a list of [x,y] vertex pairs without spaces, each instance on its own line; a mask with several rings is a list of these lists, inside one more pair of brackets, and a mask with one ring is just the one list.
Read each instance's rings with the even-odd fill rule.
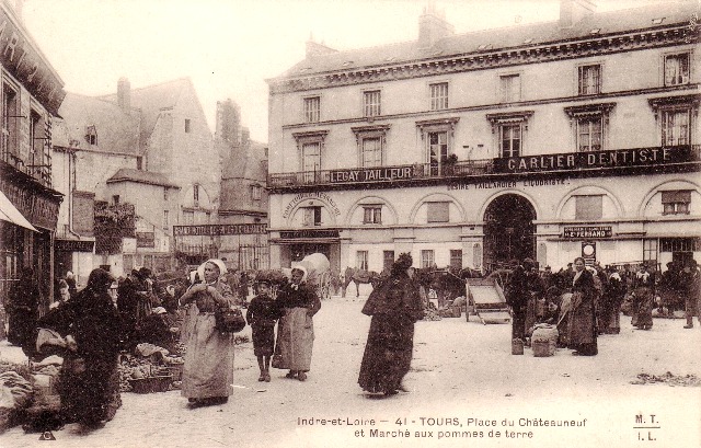
[[[59,115],[62,119],[56,120],[51,134],[55,146],[140,154],[138,114],[126,114],[116,104],[99,97],[68,93]],[[95,127],[96,146],[85,139],[90,126]]]

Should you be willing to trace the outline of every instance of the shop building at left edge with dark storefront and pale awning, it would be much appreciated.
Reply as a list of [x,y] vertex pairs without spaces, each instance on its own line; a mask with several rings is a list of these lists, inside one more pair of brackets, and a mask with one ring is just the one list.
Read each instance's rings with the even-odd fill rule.
[[[64,81],[25,28],[0,2],[0,300],[34,269],[41,309],[53,296],[54,240],[64,199],[51,177],[53,125]],[[2,323],[2,322],[0,322]]]

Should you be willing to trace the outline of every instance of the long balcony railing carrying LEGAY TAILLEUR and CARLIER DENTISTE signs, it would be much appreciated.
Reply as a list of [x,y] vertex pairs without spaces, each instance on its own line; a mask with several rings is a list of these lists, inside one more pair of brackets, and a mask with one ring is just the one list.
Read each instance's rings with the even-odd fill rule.
[[268,174],[268,188],[319,185],[378,184],[421,180],[457,180],[485,175],[544,172],[602,173],[607,169],[693,164],[701,161],[701,145],[629,148],[591,152],[563,152],[516,158],[414,163],[409,165],[352,168]]

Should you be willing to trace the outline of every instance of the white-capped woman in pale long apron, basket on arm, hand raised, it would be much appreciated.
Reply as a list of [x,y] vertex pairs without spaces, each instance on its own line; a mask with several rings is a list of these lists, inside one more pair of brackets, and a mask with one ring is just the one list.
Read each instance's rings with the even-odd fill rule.
[[191,407],[223,404],[233,382],[233,333],[216,329],[217,307],[231,307],[234,297],[225,280],[227,267],[221,260],[208,260],[204,282],[192,285],[180,298],[189,305],[185,331],[185,364],[181,394]]

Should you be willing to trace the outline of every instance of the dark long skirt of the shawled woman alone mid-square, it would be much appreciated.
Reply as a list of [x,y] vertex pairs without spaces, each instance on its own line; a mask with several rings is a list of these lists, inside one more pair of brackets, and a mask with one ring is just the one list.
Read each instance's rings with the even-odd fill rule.
[[397,391],[411,367],[413,348],[413,322],[374,315],[360,364],[360,388],[368,392]]

